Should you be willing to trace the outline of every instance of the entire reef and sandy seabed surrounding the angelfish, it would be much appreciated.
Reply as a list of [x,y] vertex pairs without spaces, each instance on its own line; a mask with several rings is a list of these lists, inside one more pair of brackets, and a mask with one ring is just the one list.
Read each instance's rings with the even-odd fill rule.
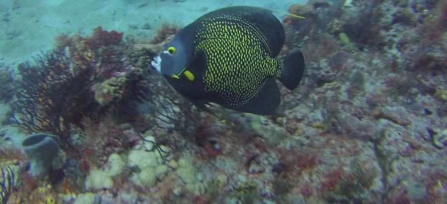
[[[275,115],[199,111],[150,61],[218,8],[306,70]],[[447,203],[446,0],[2,0],[0,204]]]

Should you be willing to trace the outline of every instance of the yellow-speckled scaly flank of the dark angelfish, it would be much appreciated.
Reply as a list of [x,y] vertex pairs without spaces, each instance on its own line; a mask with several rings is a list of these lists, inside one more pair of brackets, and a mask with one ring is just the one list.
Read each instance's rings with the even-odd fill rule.
[[222,94],[225,105],[249,102],[268,76],[279,76],[281,60],[273,58],[266,37],[252,23],[234,15],[202,22],[196,33],[196,51],[205,51],[208,70],[205,91]]

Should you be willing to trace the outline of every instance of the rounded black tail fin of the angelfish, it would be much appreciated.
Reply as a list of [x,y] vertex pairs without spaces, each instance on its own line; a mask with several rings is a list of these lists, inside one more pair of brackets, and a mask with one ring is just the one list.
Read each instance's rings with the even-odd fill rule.
[[304,57],[301,51],[292,51],[284,58],[284,67],[279,78],[288,89],[294,90],[298,87],[304,72]]

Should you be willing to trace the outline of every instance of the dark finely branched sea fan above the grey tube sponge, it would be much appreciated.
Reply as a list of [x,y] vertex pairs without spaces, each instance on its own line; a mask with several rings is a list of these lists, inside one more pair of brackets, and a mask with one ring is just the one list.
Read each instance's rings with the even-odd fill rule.
[[49,52],[35,61],[18,66],[22,79],[10,122],[29,133],[67,136],[74,108],[93,101],[88,94],[91,68],[75,63],[64,51]]

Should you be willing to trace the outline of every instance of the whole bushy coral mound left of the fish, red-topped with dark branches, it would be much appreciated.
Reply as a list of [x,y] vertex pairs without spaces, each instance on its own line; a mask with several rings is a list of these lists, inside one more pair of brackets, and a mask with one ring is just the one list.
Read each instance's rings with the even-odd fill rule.
[[136,99],[144,86],[142,68],[126,60],[122,38],[123,33],[101,27],[86,38],[63,34],[56,49],[35,64],[20,64],[22,79],[9,122],[30,133],[55,134],[64,146],[82,118]]

